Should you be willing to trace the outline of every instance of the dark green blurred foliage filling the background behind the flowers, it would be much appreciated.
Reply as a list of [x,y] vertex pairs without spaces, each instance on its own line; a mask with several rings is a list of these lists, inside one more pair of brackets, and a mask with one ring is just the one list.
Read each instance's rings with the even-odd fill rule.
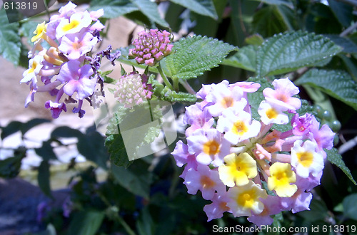
[[[51,12],[58,11],[65,3],[59,1]],[[234,83],[255,76],[270,80],[289,76],[301,88],[301,98],[313,105],[318,119],[336,132],[335,147],[357,179],[357,148],[354,147],[357,142],[356,1],[79,0],[74,3],[91,10],[104,9],[101,19],[106,25],[102,32],[104,37],[114,19],[124,16],[146,28],[170,29],[175,40],[194,33],[238,46],[238,52],[230,53],[221,66],[189,80],[194,90],[223,79]],[[1,56],[26,68],[29,51],[26,39],[31,38],[38,22],[41,22],[39,16],[34,16],[9,24],[1,10]],[[301,48],[300,39],[308,48]],[[273,45],[274,40],[281,40],[282,46]],[[326,55],[324,46],[328,47],[327,51],[331,49]],[[273,52],[269,52],[270,49]],[[269,68],[262,66],[265,62],[261,58],[266,53],[273,55],[268,61]],[[276,62],[274,58],[288,62]],[[296,62],[292,58],[303,58],[303,61]],[[119,60],[130,62],[123,57]],[[180,115],[183,105],[174,107],[176,115]],[[10,122],[1,127],[1,140],[16,132],[24,137],[27,131],[44,122],[48,120]],[[96,132],[95,127],[89,127],[86,132],[58,127],[42,147],[34,149],[36,155],[42,157],[35,169],[39,187],[48,197],[51,197],[51,161],[57,157],[54,148],[66,145],[62,142],[66,138],[75,138],[73,145],[79,154],[93,164],[84,169],[76,168],[75,161],[68,165],[67,170],[76,169],[68,182],[71,199],[61,208],[46,210],[42,221],[47,226],[46,234],[162,234],[163,231],[165,234],[211,234],[213,225],[252,226],[246,218],[233,218],[231,214],[207,222],[203,211],[206,202],[200,195],[187,194],[178,177],[182,169],[176,167],[169,153],[141,158],[127,169],[110,164],[105,137]],[[173,149],[174,144],[169,152]],[[0,176],[16,177],[21,160],[29,150],[26,145],[13,149],[13,157],[0,161]],[[101,180],[99,168],[105,172]],[[357,187],[341,169],[326,162],[321,186],[313,192],[311,210],[279,214],[273,226],[311,228],[319,225],[330,229],[342,225],[343,232],[328,231],[330,234],[356,233],[356,229],[352,230],[353,225],[357,226],[356,200]]]

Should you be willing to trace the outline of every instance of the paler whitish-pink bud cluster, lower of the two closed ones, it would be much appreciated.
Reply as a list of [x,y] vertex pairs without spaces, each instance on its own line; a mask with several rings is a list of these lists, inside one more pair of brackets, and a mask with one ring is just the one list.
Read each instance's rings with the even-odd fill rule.
[[132,108],[140,105],[152,95],[152,86],[148,84],[148,76],[136,73],[136,71],[122,75],[116,82],[114,97],[119,103],[124,104],[125,108]]

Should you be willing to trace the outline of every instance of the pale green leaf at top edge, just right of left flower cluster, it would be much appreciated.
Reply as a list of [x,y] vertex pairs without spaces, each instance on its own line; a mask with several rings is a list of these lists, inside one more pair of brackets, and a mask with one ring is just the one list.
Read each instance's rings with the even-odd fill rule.
[[139,8],[130,0],[94,0],[91,1],[91,11],[104,9],[104,17],[113,19],[133,11],[139,11]]

